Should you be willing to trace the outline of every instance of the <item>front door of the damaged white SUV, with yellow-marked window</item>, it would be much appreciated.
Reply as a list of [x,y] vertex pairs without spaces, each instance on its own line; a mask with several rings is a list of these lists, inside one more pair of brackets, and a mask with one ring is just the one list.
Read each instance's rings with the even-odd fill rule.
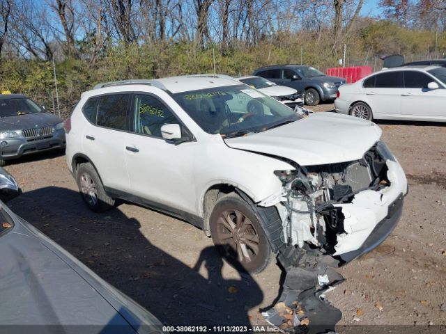
[[193,169],[197,142],[175,145],[162,138],[164,124],[185,128],[157,96],[137,93],[132,100],[132,131],[124,144],[132,195],[160,209],[175,207],[196,214]]

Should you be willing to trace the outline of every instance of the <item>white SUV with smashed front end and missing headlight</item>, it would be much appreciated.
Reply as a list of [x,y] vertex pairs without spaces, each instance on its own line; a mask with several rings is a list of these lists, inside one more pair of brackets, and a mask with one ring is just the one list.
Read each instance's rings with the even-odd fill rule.
[[231,79],[119,81],[82,94],[66,157],[96,212],[124,199],[202,228],[227,260],[348,262],[378,246],[408,188],[374,123],[302,118]]

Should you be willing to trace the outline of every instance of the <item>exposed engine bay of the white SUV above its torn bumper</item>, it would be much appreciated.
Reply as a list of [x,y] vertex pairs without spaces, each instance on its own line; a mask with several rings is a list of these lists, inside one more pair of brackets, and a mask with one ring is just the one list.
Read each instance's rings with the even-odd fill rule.
[[275,205],[282,218],[283,240],[288,246],[310,244],[323,253],[337,253],[338,236],[348,234],[342,204],[362,191],[385,191],[387,148],[378,142],[359,161],[321,166],[296,166],[275,172],[282,191],[259,205]]

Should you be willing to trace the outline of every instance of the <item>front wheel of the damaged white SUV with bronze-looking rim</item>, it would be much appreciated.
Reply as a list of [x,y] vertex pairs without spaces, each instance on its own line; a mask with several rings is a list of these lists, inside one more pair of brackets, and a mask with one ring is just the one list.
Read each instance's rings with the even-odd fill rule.
[[236,193],[218,199],[210,214],[210,235],[217,250],[239,271],[259,273],[272,258],[260,219]]

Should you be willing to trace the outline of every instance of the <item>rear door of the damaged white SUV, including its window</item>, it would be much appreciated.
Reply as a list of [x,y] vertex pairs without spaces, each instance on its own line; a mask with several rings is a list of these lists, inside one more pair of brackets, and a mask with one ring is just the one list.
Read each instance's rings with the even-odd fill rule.
[[129,189],[123,143],[129,130],[130,93],[91,97],[82,112],[89,120],[82,136],[84,153],[110,188]]

